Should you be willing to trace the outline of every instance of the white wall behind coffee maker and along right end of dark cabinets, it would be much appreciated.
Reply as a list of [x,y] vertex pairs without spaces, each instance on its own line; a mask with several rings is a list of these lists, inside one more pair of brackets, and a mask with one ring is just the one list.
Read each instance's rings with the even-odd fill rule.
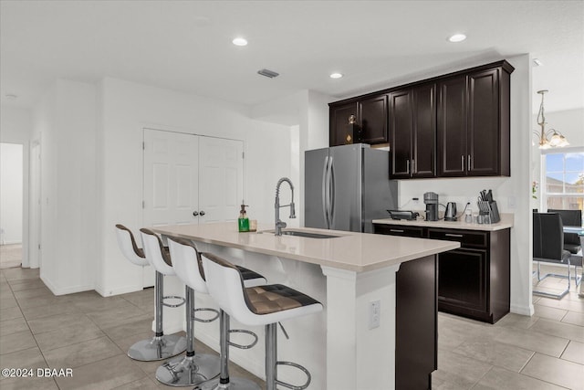
[[499,211],[515,214],[515,227],[511,229],[511,311],[531,315],[531,64],[528,55],[506,59],[515,67],[511,74],[511,176],[401,181],[399,197],[401,206],[419,197],[419,206],[411,203],[405,208],[423,209],[423,193],[433,191],[441,203],[456,202],[460,208],[470,201],[477,211],[478,192],[492,188]]

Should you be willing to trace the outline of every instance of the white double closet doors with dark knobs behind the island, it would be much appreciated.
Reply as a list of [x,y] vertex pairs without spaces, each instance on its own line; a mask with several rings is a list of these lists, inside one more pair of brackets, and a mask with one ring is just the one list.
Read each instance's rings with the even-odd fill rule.
[[[243,141],[144,129],[142,225],[235,221],[244,196],[243,150]],[[143,285],[153,284],[146,267]]]

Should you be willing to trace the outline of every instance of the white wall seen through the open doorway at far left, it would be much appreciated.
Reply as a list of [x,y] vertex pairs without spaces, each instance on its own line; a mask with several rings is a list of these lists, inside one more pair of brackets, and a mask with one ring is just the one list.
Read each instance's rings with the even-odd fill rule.
[[0,142],[0,244],[22,243],[23,145]]

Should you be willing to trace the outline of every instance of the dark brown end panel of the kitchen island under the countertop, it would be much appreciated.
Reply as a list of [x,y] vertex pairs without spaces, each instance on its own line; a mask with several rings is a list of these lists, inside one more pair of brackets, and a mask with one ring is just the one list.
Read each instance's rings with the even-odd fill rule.
[[396,274],[396,389],[432,388],[438,368],[437,321],[435,256],[401,263]]

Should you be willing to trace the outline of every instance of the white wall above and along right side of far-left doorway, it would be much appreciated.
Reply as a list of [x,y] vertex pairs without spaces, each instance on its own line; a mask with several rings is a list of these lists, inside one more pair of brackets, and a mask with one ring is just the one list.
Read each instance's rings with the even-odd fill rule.
[[22,170],[23,170],[23,193],[22,193],[22,265],[28,267],[28,160],[30,147],[30,134],[32,131],[32,112],[27,109],[19,109],[3,105],[0,107],[0,142],[19,143],[23,145]]

